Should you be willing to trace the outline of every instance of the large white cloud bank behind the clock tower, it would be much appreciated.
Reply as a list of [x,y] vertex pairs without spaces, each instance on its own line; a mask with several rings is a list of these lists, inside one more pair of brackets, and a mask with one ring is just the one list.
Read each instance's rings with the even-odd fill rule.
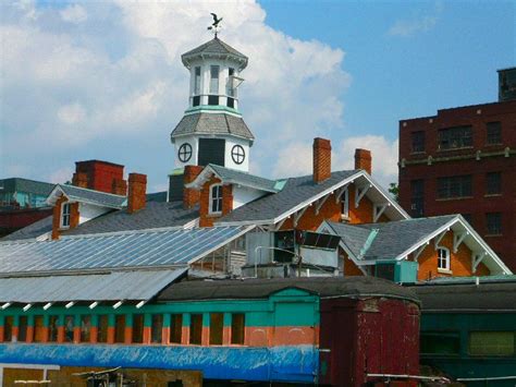
[[[64,166],[88,157],[138,168],[146,160],[149,170],[142,172],[149,173],[150,186],[162,184],[173,167],[169,134],[187,106],[188,73],[180,57],[211,38],[206,27],[213,11],[223,16],[221,38],[249,57],[239,97],[257,137],[253,170],[280,173],[286,148],[311,149],[315,136],[342,136],[341,96],[351,82],[344,51],[271,28],[254,1],[82,2],[64,9],[23,2],[3,10],[5,160],[30,166],[33,178],[51,173],[41,159]],[[292,164],[292,171],[305,161]]]

